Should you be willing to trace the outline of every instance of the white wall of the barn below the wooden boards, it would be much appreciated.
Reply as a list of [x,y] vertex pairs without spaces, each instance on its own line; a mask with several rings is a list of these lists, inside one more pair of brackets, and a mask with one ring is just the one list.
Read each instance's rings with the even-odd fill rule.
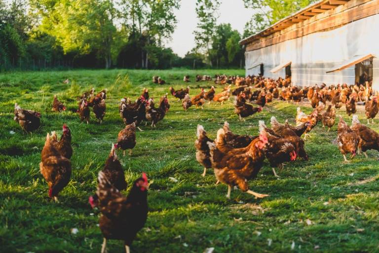
[[[340,28],[313,33],[296,39],[267,46],[245,53],[246,74],[249,66],[263,62],[265,76],[284,77],[284,68],[269,72],[275,66],[292,61],[292,81],[295,85],[315,83],[354,83],[354,66],[343,71],[326,73],[327,70],[356,56],[374,54],[379,57],[379,15],[373,15],[349,23]],[[377,63],[377,66],[379,64]],[[374,86],[379,88],[379,67],[374,71]]]

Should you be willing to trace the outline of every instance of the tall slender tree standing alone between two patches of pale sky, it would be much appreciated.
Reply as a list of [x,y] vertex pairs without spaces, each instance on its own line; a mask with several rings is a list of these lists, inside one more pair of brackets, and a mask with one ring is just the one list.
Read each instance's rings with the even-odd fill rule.
[[211,42],[216,28],[218,18],[217,10],[220,6],[220,0],[197,0],[196,16],[198,19],[195,35],[196,49],[203,51],[208,58],[209,65],[212,67],[211,60]]

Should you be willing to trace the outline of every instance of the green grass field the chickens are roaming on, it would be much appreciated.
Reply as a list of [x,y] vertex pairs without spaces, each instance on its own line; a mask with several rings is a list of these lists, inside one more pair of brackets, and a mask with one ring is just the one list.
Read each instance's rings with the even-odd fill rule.
[[[93,253],[100,252],[102,235],[99,211],[92,210],[88,196],[96,189],[98,171],[104,166],[112,142],[124,124],[118,114],[121,97],[136,99],[144,87],[158,100],[168,88],[185,87],[183,75],[196,73],[243,75],[240,70],[209,71],[67,71],[0,74],[0,252]],[[168,84],[152,84],[152,75]],[[70,84],[63,80],[69,78]],[[212,83],[190,82],[190,94]],[[54,94],[68,109],[76,109],[75,97],[95,87],[108,88],[107,113],[99,125],[91,112],[89,125],[67,110],[50,111]],[[220,91],[221,87],[217,88]],[[298,160],[273,177],[268,164],[250,181],[254,191],[269,194],[256,200],[234,190],[227,200],[226,185],[215,185],[212,171],[195,160],[197,124],[211,138],[225,120],[233,132],[257,134],[258,120],[275,115],[294,123],[296,105],[273,102],[264,111],[239,122],[232,102],[190,108],[170,98],[171,108],[156,129],[142,125],[131,156],[118,152],[129,185],[141,172],[153,181],[149,191],[149,217],[134,241],[133,253],[260,252],[379,252],[378,152],[369,159],[357,156],[349,164],[332,142],[337,125],[326,133],[318,124],[305,142],[309,161]],[[41,127],[33,135],[23,133],[13,121],[14,103],[41,112]],[[311,108],[302,109],[310,112]],[[344,109],[344,108],[343,108]],[[345,112],[340,112],[346,120]],[[363,123],[363,113],[359,114]],[[60,203],[47,195],[47,184],[38,163],[47,132],[67,123],[73,135],[73,175],[60,194]],[[379,124],[373,126],[377,131]],[[172,181],[169,178],[178,181]],[[71,229],[78,233],[72,234]],[[123,243],[110,241],[108,252],[124,252]]]

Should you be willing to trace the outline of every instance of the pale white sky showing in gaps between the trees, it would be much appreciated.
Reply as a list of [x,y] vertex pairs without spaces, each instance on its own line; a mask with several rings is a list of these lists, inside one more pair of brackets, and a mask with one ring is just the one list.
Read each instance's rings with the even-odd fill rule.
[[[181,57],[195,46],[194,35],[196,29],[195,0],[182,0],[181,7],[175,10],[178,24],[172,38],[166,42],[174,53]],[[247,9],[242,0],[221,0],[217,23],[230,23],[233,29],[241,34],[245,24],[252,17],[252,9]]]

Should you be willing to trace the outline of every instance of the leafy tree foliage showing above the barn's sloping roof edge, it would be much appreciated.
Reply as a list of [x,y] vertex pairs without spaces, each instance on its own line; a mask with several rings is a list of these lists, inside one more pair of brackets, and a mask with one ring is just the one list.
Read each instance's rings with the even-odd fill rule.
[[246,23],[244,36],[256,34],[315,0],[243,0],[255,12]]

